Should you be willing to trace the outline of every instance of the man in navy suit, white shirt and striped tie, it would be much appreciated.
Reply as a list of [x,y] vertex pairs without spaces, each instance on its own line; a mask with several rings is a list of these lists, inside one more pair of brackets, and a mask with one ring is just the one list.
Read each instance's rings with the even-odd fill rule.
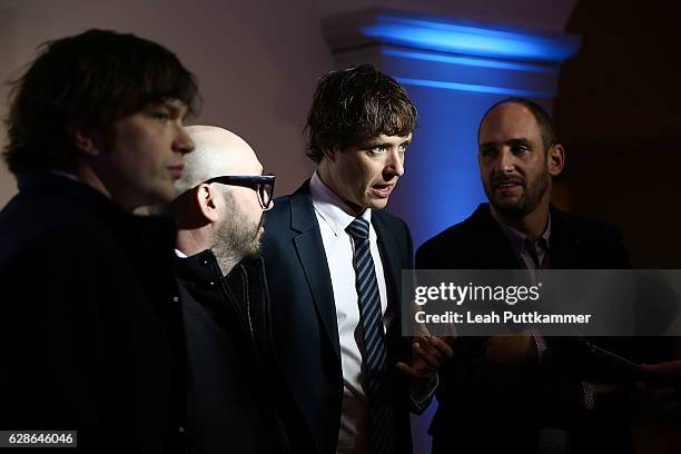
[[276,354],[304,421],[293,428],[294,452],[411,453],[408,409],[428,403],[451,355],[423,337],[413,359],[401,336],[412,237],[381,211],[415,121],[404,89],[372,66],[324,76],[307,119],[317,171],[268,213]]

